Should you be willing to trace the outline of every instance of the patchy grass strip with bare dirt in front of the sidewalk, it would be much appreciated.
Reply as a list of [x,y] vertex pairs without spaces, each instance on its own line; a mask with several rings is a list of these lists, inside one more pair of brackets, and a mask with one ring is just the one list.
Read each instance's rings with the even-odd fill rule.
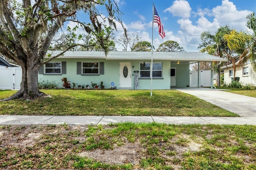
[[[256,169],[252,125],[26,125],[0,134],[5,169]],[[126,159],[106,159],[114,157]]]

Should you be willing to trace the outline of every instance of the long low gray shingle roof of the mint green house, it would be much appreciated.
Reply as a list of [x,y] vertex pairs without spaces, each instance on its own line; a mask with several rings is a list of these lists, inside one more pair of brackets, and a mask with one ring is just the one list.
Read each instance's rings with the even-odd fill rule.
[[[61,51],[48,51],[57,55]],[[46,56],[47,57],[47,56]],[[66,51],[59,58],[104,58],[104,59],[158,59],[171,61],[227,61],[214,55],[201,52],[162,52],[162,51],[109,51],[105,56],[104,51]]]

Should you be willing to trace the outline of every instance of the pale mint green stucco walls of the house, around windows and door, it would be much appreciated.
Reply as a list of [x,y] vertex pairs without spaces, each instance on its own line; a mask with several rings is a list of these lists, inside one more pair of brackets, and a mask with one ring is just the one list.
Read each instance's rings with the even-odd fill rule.
[[[66,61],[66,74],[62,75],[47,75],[38,74],[38,81],[55,81],[58,83],[58,87],[63,88],[63,82],[61,79],[66,77],[68,81],[77,83],[77,85],[91,85],[91,82],[100,84],[103,81],[105,88],[111,88],[111,82],[114,82],[117,88],[119,88],[119,64],[120,62],[131,63],[131,84],[134,89],[134,71],[140,71],[140,63],[144,61],[149,63],[151,60],[106,60],[106,59],[68,59],[68,58],[57,58],[52,62]],[[76,73],[77,62],[104,62],[104,74],[103,75],[78,75]],[[170,61],[166,60],[154,60],[154,63],[162,63],[162,78],[153,79],[152,89],[170,89]],[[134,67],[132,67],[134,66]],[[173,66],[173,65],[172,65]],[[189,65],[176,65],[177,68],[177,87],[186,87],[189,85]],[[139,78],[138,80],[139,89],[150,89],[151,79]]]

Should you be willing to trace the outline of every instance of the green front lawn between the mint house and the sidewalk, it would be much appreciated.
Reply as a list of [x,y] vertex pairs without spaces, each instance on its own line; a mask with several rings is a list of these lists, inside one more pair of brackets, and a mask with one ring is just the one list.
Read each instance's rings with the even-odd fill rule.
[[[0,115],[121,115],[238,117],[176,90],[42,90],[52,98],[0,102]],[[0,99],[15,91],[0,91]]]

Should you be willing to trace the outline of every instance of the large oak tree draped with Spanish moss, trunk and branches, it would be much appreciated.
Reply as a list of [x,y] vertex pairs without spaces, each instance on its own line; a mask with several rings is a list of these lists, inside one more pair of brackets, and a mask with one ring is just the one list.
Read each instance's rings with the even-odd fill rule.
[[[106,17],[99,13],[98,8],[102,7],[107,11]],[[80,22],[78,14],[85,15],[88,22]],[[67,50],[83,45],[71,43],[55,56],[47,53],[52,38],[61,32],[64,23],[75,22],[82,26],[85,32],[96,37],[107,53],[108,39],[116,29],[116,22],[123,26],[121,14],[114,0],[22,0],[21,3],[0,0],[0,54],[16,61],[22,68],[20,90],[4,100],[44,95],[38,90],[39,67]],[[102,19],[105,22],[101,22]]]

